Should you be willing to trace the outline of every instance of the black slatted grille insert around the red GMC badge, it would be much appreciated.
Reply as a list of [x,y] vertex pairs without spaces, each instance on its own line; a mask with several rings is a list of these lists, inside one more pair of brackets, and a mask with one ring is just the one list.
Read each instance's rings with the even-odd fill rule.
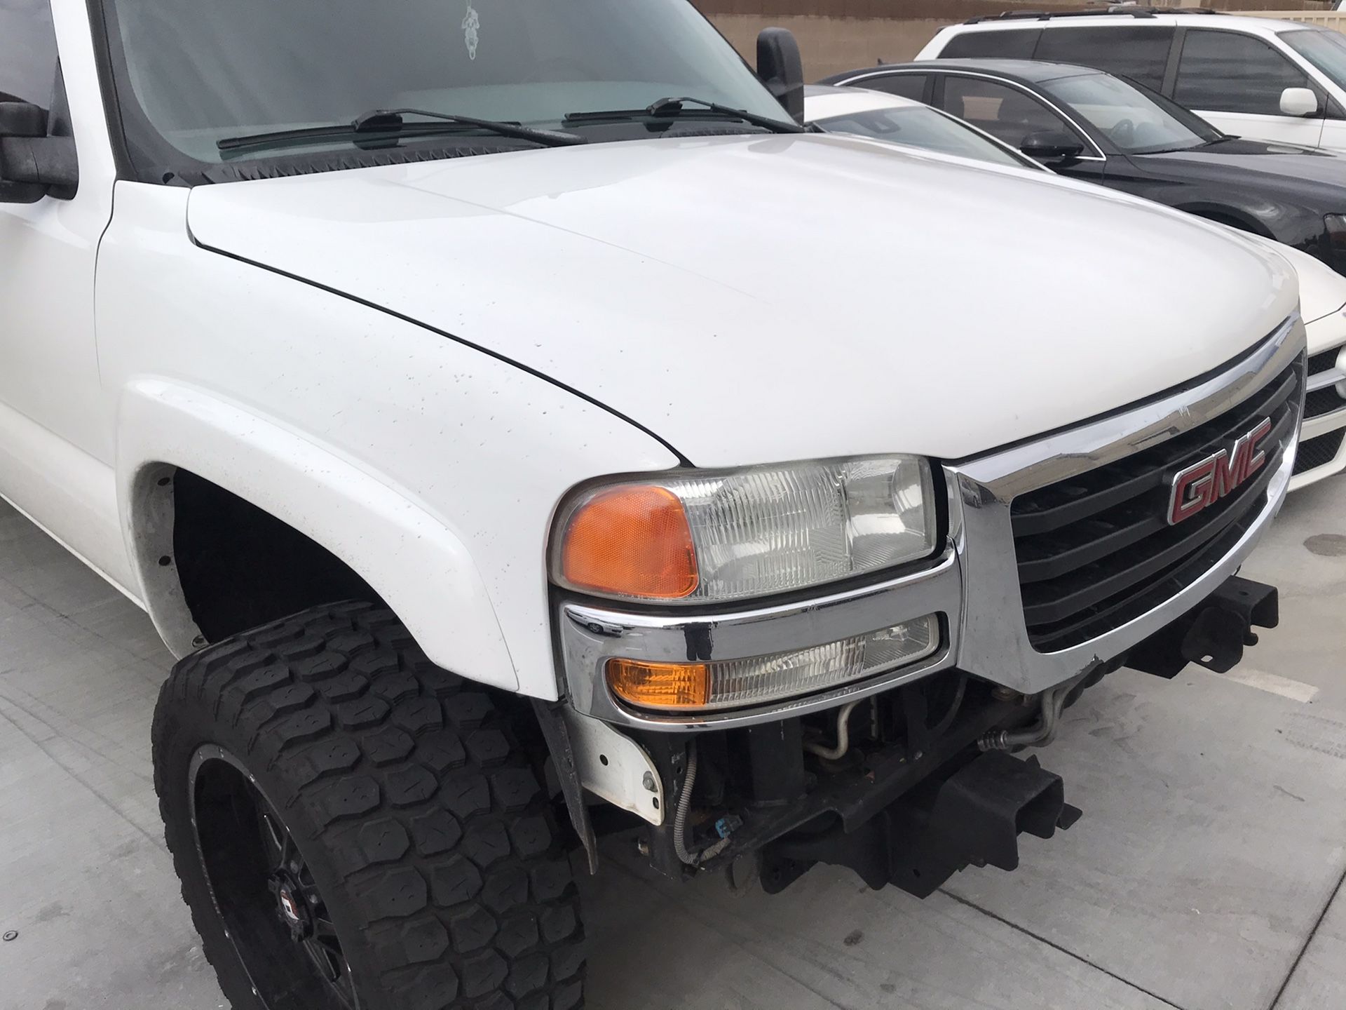
[[[1028,640],[1057,652],[1106,634],[1198,579],[1250,528],[1299,424],[1304,358],[1237,407],[1125,459],[1015,498]],[[1176,474],[1271,419],[1267,463],[1197,516],[1168,524]]]

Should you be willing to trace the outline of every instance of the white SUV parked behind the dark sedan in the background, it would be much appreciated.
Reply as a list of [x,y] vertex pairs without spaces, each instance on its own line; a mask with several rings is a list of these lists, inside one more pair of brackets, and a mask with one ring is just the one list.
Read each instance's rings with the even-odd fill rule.
[[917,59],[1004,57],[1129,77],[1226,133],[1346,151],[1346,36],[1214,11],[1005,13],[945,28]]

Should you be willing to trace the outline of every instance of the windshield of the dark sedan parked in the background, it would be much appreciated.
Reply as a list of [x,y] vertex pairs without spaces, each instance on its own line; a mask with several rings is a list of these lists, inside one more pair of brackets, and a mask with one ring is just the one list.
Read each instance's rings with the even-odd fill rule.
[[1042,88],[1128,155],[1187,151],[1224,136],[1205,120],[1120,77],[1075,74],[1044,81]]

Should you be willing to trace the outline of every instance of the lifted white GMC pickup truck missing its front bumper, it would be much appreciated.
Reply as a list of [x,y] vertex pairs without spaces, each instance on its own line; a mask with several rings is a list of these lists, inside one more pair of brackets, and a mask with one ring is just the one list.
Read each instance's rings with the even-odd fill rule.
[[0,493],[182,657],[234,1007],[579,1006],[602,834],[1012,869],[1078,811],[1008,751],[1275,624],[1285,263],[758,74],[684,0],[0,0]]

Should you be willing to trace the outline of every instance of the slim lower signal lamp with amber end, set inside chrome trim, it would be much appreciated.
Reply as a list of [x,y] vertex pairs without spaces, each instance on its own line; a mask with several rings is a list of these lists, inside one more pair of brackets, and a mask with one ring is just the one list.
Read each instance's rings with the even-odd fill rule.
[[933,615],[810,649],[712,663],[607,661],[623,702],[656,711],[734,708],[778,702],[910,665],[940,646]]

